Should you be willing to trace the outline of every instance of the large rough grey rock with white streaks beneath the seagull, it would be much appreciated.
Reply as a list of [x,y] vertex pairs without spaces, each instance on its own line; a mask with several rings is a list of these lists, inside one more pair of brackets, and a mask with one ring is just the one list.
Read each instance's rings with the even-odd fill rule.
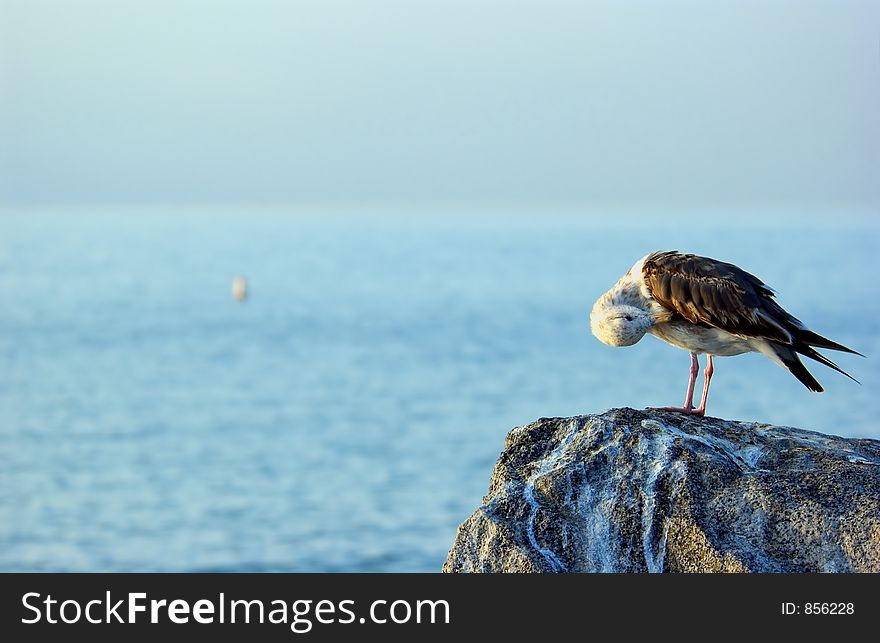
[[613,409],[514,428],[444,572],[880,572],[880,441]]

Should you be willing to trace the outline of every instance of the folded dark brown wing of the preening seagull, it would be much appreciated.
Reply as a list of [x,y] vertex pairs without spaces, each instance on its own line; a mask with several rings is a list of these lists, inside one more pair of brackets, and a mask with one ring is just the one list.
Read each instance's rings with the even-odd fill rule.
[[676,251],[655,252],[642,268],[645,284],[662,306],[692,324],[720,328],[740,337],[794,342],[790,315],[773,291],[731,263]]

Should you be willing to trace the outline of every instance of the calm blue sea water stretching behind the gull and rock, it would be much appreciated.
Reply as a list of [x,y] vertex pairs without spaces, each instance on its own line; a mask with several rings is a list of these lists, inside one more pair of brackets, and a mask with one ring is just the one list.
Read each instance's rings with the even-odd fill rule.
[[861,385],[810,364],[822,395],[718,359],[711,415],[880,438],[878,241],[837,218],[6,213],[0,569],[436,571],[510,428],[681,402],[686,353],[588,328],[654,249],[738,263],[868,356],[837,356]]

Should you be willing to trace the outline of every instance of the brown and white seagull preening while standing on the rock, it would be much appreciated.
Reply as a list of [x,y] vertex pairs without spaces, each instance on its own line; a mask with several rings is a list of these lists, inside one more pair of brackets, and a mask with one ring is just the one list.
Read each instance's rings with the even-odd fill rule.
[[[705,415],[716,355],[762,353],[816,393],[822,392],[822,385],[798,353],[857,382],[813,347],[864,355],[808,330],[773,297],[763,281],[731,263],[676,250],[652,252],[599,297],[590,313],[590,329],[609,346],[632,346],[651,333],[690,352],[684,405],[662,407],[663,411]],[[703,396],[694,407],[702,353],[708,356]]]

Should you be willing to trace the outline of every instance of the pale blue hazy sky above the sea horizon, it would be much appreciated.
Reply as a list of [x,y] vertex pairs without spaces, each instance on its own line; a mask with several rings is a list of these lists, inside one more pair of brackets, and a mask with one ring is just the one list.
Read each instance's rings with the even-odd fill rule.
[[0,204],[880,205],[880,2],[0,0]]

